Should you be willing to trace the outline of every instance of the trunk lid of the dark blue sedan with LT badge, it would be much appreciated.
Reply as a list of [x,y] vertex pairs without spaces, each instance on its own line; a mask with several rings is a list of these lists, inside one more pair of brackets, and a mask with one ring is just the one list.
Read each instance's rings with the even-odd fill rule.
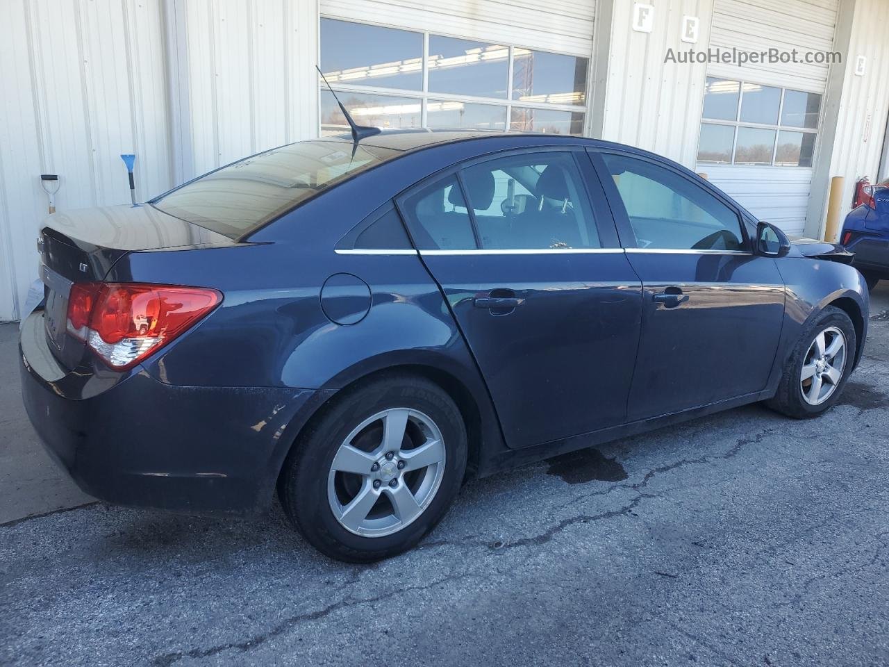
[[44,327],[53,356],[69,370],[80,364],[84,342],[67,333],[71,285],[101,281],[126,253],[237,245],[151,205],[120,205],[53,213],[37,239],[44,283]]

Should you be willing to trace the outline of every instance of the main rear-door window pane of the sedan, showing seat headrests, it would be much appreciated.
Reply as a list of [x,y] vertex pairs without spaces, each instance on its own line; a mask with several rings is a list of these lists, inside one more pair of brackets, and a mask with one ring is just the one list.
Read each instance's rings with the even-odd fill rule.
[[462,172],[483,248],[597,248],[581,175],[566,153],[501,157]]

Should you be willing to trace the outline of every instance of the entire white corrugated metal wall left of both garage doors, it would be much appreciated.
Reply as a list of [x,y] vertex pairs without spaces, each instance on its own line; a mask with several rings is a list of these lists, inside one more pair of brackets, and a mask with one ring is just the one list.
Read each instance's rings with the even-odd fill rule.
[[[147,199],[317,133],[316,0],[2,0],[0,320],[36,278],[47,214]],[[172,61],[171,61],[172,60]]]

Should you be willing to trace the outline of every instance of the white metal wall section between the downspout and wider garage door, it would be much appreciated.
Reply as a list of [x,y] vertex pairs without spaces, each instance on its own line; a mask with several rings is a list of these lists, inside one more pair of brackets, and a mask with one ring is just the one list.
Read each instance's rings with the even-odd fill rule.
[[184,141],[193,170],[185,178],[316,136],[316,2],[213,0],[184,8],[190,109]]

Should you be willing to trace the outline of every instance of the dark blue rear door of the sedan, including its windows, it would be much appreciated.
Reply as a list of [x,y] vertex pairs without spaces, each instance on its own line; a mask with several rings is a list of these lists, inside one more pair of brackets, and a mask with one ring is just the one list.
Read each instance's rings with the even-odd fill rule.
[[626,420],[641,285],[582,150],[486,157],[397,205],[509,446]]

